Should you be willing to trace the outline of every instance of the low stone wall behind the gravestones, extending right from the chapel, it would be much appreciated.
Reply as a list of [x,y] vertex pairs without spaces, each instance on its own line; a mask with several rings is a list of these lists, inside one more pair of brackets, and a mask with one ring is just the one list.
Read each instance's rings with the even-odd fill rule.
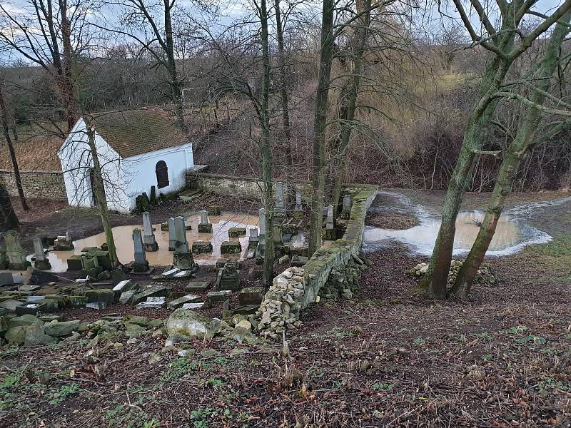
[[[274,182],[274,191],[276,189],[275,183],[276,182]],[[261,200],[261,195],[263,193],[263,181],[260,178],[203,173],[192,170],[189,170],[186,173],[186,185],[188,188],[208,190],[216,193],[216,195],[234,195],[248,199]],[[309,203],[311,185],[308,180],[295,180],[293,185],[286,183],[285,180],[283,180],[283,186],[286,203],[295,203],[296,188],[301,190],[301,200],[303,205]],[[363,185],[360,184],[343,184],[343,190],[345,190],[345,193],[350,193],[352,196],[359,193],[361,188],[363,188]]]

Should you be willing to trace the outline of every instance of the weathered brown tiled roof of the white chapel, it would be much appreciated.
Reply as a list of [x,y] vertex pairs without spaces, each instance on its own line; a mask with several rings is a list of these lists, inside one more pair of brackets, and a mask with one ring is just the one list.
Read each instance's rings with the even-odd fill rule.
[[136,108],[91,115],[91,126],[121,158],[181,146],[188,137],[162,108]]

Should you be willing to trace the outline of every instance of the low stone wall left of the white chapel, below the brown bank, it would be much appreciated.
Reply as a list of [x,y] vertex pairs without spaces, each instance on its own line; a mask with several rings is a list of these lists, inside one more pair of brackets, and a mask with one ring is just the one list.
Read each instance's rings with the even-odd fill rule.
[[[67,199],[64,175],[57,171],[20,171],[22,188],[26,198]],[[0,183],[11,196],[17,196],[14,172],[0,170]]]

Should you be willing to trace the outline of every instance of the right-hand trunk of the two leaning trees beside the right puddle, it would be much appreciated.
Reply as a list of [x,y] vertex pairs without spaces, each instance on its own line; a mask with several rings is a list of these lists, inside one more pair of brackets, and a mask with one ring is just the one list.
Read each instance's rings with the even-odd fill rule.
[[[570,22],[571,13],[567,12],[565,16],[555,26],[543,61],[541,62],[539,71],[533,79],[535,86],[546,93],[550,89],[550,82],[553,73],[559,65],[560,48],[562,41],[569,34],[568,24]],[[530,101],[537,105],[542,105],[545,101],[544,93],[532,91]],[[520,169],[521,162],[525,159],[535,138],[535,131],[541,121],[541,112],[534,106],[527,108],[525,118],[517,135],[512,141],[510,148],[505,154],[500,172],[497,175],[497,181],[492,193],[492,199],[487,205],[486,213],[480,231],[468,257],[460,268],[456,282],[453,285],[450,294],[460,299],[468,299],[470,288],[473,285],[477,270],[482,265],[487,249],[490,247],[492,238],[494,237],[497,221],[500,219],[504,208],[505,198],[512,191],[513,181],[517,171]]]

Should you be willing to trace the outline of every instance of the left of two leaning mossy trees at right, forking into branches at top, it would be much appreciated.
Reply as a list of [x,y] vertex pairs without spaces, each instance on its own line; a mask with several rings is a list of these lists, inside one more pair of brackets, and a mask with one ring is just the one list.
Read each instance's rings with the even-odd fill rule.
[[[526,35],[519,26],[535,2],[514,0],[507,3],[497,0],[497,11],[501,16],[500,28],[492,24],[486,11],[478,0],[470,0],[470,6],[475,17],[485,29],[484,34],[478,34],[473,26],[473,16],[470,16],[461,0],[453,0],[460,19],[468,30],[474,45],[482,46],[492,54],[485,68],[484,75],[476,92],[476,101],[470,111],[468,124],[464,133],[460,155],[450,178],[448,191],[445,196],[442,221],[436,238],[430,265],[423,280],[418,285],[418,291],[430,298],[444,299],[448,295],[448,271],[453,254],[455,223],[464,194],[470,184],[477,156],[487,154],[482,148],[485,143],[487,128],[492,122],[498,103],[498,92],[502,91],[505,77],[512,64],[521,56],[540,35],[555,24],[571,8],[571,0],[566,0],[549,16],[544,16],[540,24]],[[519,40],[515,44],[515,37]]]

